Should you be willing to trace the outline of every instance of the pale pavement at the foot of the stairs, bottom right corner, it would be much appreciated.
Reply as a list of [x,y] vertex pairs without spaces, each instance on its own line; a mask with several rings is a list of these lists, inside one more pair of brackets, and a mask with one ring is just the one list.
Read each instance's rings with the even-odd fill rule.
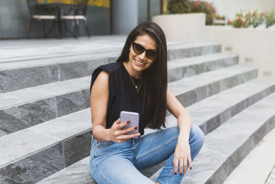
[[224,184],[275,183],[275,128],[248,154]]

